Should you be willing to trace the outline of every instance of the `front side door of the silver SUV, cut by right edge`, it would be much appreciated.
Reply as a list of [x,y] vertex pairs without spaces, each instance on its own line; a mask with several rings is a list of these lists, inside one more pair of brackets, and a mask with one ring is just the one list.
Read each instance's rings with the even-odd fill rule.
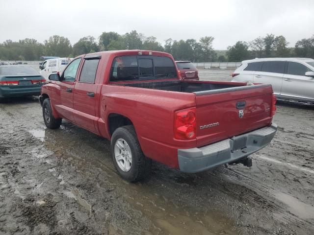
[[301,63],[288,61],[281,95],[314,100],[314,78],[305,76],[308,71],[312,70]]

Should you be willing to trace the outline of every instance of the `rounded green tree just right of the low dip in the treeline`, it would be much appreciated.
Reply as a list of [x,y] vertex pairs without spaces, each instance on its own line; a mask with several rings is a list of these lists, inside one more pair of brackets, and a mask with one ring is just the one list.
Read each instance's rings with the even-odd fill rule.
[[240,62],[248,59],[250,52],[247,43],[238,41],[234,46],[228,47],[227,56],[229,62]]

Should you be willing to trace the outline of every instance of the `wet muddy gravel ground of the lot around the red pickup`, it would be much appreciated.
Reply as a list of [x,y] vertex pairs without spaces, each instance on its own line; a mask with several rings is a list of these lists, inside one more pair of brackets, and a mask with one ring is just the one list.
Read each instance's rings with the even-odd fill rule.
[[277,109],[277,135],[252,167],[154,163],[130,184],[109,141],[64,120],[46,129],[36,97],[0,103],[0,235],[312,235],[314,105]]

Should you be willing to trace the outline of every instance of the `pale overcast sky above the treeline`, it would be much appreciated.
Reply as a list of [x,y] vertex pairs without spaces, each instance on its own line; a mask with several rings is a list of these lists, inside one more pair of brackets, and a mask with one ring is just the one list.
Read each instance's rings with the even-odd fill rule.
[[213,36],[215,49],[273,33],[293,47],[314,34],[314,0],[0,0],[0,42],[131,30],[161,44]]

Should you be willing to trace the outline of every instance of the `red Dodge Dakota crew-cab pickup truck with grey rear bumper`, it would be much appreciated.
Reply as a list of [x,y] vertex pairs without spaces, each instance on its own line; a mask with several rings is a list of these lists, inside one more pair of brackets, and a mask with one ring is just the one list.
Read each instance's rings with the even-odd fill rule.
[[40,96],[46,126],[64,118],[111,140],[117,172],[131,182],[149,173],[152,160],[189,173],[251,166],[248,156],[277,131],[271,85],[183,81],[164,52],[80,55],[49,79]]

